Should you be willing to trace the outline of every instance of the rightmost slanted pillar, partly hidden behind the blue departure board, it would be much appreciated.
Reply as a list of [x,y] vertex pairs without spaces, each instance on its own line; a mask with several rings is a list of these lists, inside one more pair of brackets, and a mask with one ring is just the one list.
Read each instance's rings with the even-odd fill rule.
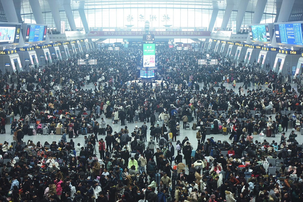
[[[277,22],[288,22],[294,2],[295,0],[283,0],[281,5],[281,8],[283,8],[283,12],[281,12],[282,10],[280,10],[280,12],[277,13],[278,15],[278,19],[276,18]],[[275,33],[271,40],[271,46],[278,47]]]

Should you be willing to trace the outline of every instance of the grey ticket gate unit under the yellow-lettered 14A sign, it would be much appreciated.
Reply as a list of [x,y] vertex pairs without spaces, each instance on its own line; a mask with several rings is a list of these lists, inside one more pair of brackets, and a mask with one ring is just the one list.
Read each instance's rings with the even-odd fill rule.
[[0,51],[0,67],[2,72],[9,70],[10,72],[23,71],[19,55],[16,50],[5,49]]

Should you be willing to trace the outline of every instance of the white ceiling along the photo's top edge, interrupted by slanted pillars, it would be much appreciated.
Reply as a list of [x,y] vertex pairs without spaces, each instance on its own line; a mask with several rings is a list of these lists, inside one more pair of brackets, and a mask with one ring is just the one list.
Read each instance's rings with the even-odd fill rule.
[[[102,8],[195,8],[212,9],[213,4],[217,4],[220,10],[225,10],[228,0],[57,0],[59,11],[64,11],[63,4],[70,3],[72,10],[78,10],[79,6],[85,9]],[[232,0],[231,0],[232,1]],[[241,0],[234,1],[234,11],[238,10]],[[247,12],[254,12],[258,0],[249,0]],[[42,12],[50,12],[48,0],[39,0]],[[282,0],[268,0],[265,13],[276,14],[281,8]],[[32,13],[28,0],[14,0],[16,9],[20,9],[20,14]],[[2,5],[1,5],[2,7]],[[2,8],[3,10],[3,8]],[[295,0],[293,12],[303,13],[303,0]],[[0,14],[2,13],[0,9]]]

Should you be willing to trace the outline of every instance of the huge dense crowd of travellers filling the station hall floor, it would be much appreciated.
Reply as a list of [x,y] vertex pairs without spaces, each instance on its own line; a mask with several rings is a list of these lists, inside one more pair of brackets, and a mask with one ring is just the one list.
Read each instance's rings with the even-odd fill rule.
[[[0,116],[19,119],[10,131],[16,144],[0,146],[0,155],[10,159],[0,163],[0,201],[300,200],[303,156],[294,130],[303,121],[301,82],[291,88],[284,75],[235,64],[216,52],[210,57],[219,65],[201,68],[198,59],[205,55],[158,46],[159,83],[138,78],[142,50],[136,46],[91,51],[95,66],[77,65],[81,55],[75,55],[30,72],[5,72]],[[84,90],[90,83],[95,88]],[[275,118],[267,115],[271,110]],[[180,140],[189,119],[196,137]],[[289,121],[292,132],[283,133],[281,142],[254,142],[255,134],[275,137],[282,127],[287,132]],[[134,122],[142,125],[125,126]],[[119,123],[121,130],[113,131]],[[34,134],[62,133],[62,139],[24,141],[32,124]],[[214,137],[206,138],[208,128]],[[67,141],[80,133],[84,144]],[[234,140],[221,141],[218,133]],[[271,168],[278,169],[272,174]]]

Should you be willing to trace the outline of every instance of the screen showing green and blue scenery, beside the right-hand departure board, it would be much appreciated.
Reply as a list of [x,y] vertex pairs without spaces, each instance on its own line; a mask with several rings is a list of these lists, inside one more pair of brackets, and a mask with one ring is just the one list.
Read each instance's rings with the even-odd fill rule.
[[270,42],[268,25],[249,26],[249,35],[251,41]]

